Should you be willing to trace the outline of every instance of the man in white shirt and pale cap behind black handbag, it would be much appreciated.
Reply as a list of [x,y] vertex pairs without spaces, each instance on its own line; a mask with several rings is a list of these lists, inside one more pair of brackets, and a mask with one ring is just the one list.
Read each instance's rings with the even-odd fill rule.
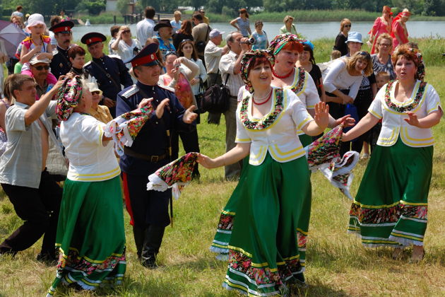
[[[218,47],[223,41],[223,34],[218,29],[213,29],[208,34],[210,40],[206,45],[206,50],[204,50],[204,59],[206,61],[206,69],[208,74],[208,86],[213,86],[215,83],[220,85],[221,75],[218,69],[220,65],[220,59],[223,54],[227,54],[229,47]],[[208,124],[220,124],[220,112],[208,112],[207,123]]]

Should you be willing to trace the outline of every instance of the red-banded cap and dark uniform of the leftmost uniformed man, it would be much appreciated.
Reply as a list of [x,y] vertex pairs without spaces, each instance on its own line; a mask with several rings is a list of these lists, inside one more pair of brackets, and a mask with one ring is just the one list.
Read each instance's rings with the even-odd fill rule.
[[[65,33],[71,34],[71,28],[74,27],[74,23],[71,21],[64,21],[53,25],[49,28],[50,31],[54,32],[54,34]],[[59,76],[67,74],[71,69],[71,62],[68,57],[68,49],[64,50],[63,48],[57,47],[52,51],[53,57],[49,66],[51,67],[51,73],[59,79]]]

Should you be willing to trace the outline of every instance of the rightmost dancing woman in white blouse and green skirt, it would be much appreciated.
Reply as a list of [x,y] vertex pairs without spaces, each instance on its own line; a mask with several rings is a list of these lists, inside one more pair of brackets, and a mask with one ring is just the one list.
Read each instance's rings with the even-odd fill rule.
[[425,66],[417,50],[401,45],[393,52],[396,81],[381,88],[368,114],[343,136],[367,132],[382,120],[377,146],[350,209],[348,231],[369,248],[414,245],[413,261],[422,260],[427,230],[428,192],[434,138],[442,109],[433,86],[423,81]]

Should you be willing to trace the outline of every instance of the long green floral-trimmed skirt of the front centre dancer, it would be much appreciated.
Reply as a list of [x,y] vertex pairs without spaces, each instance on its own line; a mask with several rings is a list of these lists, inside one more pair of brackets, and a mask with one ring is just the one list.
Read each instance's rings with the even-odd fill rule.
[[249,165],[237,195],[223,286],[271,296],[286,284],[304,282],[303,245],[311,209],[306,158],[278,163],[267,154],[261,165]]

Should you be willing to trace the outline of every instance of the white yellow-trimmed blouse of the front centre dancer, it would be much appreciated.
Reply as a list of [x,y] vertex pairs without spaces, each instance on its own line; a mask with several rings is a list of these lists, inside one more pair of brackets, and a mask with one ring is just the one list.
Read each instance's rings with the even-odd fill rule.
[[251,93],[244,90],[237,107],[235,139],[236,143],[251,143],[249,164],[261,165],[268,152],[280,163],[304,156],[297,131],[314,119],[297,95],[289,89],[273,87],[271,110],[261,119],[251,115],[251,98]]

